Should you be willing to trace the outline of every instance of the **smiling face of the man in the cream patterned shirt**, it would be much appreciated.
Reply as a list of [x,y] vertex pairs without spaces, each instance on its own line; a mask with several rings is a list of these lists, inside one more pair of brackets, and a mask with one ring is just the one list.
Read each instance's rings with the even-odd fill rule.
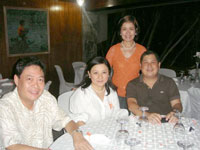
[[22,103],[31,108],[34,101],[37,100],[44,90],[44,72],[37,65],[31,65],[24,68],[20,77],[14,76],[17,91]]

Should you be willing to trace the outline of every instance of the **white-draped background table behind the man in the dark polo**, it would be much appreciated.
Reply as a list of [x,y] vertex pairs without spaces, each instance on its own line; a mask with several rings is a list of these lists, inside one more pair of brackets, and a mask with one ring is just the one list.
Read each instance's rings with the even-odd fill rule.
[[174,81],[179,89],[183,116],[200,120],[200,82],[187,78],[174,78]]

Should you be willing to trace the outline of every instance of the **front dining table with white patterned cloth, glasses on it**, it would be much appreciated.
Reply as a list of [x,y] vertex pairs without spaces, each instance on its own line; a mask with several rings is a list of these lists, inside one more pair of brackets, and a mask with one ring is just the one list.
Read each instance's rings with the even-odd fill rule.
[[[134,150],[183,150],[178,145],[180,139],[174,132],[174,123],[151,124],[143,122],[137,116],[130,115],[124,124],[128,131],[126,140],[117,140],[116,134],[121,129],[117,118],[110,117],[98,122],[81,126],[84,137],[95,150],[130,150],[127,141],[134,139]],[[193,118],[182,117],[188,150],[200,150],[200,122]],[[60,136],[50,146],[51,150],[74,150],[70,134]]]

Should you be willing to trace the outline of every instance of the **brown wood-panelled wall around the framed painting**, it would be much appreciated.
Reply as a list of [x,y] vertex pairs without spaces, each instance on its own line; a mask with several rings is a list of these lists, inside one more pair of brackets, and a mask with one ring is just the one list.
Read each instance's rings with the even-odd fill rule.
[[[45,8],[49,10],[50,53],[37,55],[47,66],[46,80],[52,80],[50,91],[58,93],[59,80],[54,68],[62,67],[65,79],[72,81],[71,63],[82,60],[82,12],[76,3],[57,0],[1,0],[0,1],[0,73],[10,77],[12,66],[19,57],[8,57],[4,28],[4,6]],[[60,9],[52,10],[53,6]],[[17,32],[17,31],[16,31]],[[53,89],[53,90],[52,90]]]

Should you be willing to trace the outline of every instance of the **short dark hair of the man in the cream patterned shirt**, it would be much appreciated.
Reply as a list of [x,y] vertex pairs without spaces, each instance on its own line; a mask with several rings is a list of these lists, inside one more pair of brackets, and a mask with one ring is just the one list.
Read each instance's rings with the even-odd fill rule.
[[14,65],[14,74],[17,75],[20,78],[20,75],[24,71],[24,69],[28,66],[36,65],[39,66],[43,73],[46,72],[46,67],[43,62],[40,61],[39,58],[36,56],[29,56],[24,58],[19,58],[17,62]]

